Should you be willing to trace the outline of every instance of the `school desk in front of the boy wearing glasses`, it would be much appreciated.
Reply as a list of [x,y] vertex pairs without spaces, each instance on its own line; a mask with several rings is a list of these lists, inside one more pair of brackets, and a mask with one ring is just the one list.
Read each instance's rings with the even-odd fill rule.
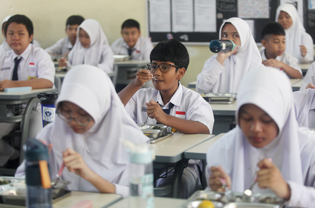
[[151,144],[155,151],[154,162],[176,163],[172,182],[173,198],[179,197],[181,175],[188,161],[188,159],[184,158],[184,152],[213,136],[213,134],[174,133],[173,136],[169,138]]

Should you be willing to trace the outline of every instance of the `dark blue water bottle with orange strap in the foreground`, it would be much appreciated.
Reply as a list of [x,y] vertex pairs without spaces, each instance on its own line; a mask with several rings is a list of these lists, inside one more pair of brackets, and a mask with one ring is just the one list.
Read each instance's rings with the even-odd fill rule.
[[52,193],[47,165],[48,148],[36,139],[26,143],[26,207],[51,208]]

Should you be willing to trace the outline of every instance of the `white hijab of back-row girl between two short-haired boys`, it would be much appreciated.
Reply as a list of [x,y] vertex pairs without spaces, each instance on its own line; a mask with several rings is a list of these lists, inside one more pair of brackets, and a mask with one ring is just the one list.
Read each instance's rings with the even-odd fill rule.
[[[80,28],[89,35],[90,46],[88,48],[84,48],[79,41]],[[84,20],[77,28],[77,40],[68,55],[69,62],[72,65],[97,65],[100,63],[104,48],[108,46],[108,40],[102,27],[100,26],[100,23],[93,19]]]

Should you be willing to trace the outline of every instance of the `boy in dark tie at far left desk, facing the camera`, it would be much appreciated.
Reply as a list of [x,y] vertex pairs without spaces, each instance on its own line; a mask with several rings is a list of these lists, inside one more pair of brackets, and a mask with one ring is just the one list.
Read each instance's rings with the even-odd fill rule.
[[[4,27],[6,41],[12,50],[0,55],[0,91],[9,87],[52,88],[55,68],[50,55],[30,42],[33,39],[33,24],[25,15],[16,14],[9,18]],[[41,129],[40,107],[31,112],[29,136],[35,138]],[[17,150],[1,139],[14,129],[15,123],[0,125],[0,166],[16,155]],[[14,156],[15,157],[15,156]]]

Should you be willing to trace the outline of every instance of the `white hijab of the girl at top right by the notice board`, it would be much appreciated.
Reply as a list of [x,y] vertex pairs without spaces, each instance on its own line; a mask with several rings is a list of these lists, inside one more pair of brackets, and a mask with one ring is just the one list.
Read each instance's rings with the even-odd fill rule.
[[296,58],[301,56],[300,45],[302,45],[302,35],[305,28],[300,21],[299,13],[293,4],[279,5],[276,11],[276,22],[278,22],[279,14],[281,11],[288,13],[292,19],[292,25],[285,29],[285,52],[293,55]]

